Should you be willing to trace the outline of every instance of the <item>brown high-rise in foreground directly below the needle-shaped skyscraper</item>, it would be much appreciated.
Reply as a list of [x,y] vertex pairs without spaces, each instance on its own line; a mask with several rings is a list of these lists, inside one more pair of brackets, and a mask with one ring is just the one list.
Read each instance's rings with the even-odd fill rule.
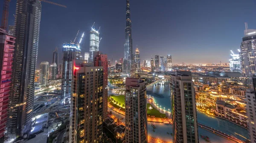
[[125,79],[125,141],[148,143],[145,81]]

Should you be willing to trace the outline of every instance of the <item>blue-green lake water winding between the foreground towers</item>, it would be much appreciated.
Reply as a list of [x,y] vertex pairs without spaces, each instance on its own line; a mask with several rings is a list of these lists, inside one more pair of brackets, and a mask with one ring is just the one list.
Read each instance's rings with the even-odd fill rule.
[[[166,110],[168,110],[168,109],[171,110],[169,82],[159,83],[159,84],[155,84],[153,87],[149,87],[147,89],[147,95],[154,96],[156,103],[158,104],[158,106],[162,106],[161,107],[162,109],[165,107]],[[197,112],[197,117],[198,117],[198,123],[204,124],[206,126],[214,128],[214,129],[217,129],[223,133],[226,133],[227,135],[231,135],[240,140],[244,140],[244,138],[239,135],[249,138],[247,129],[244,129],[243,127],[238,126],[230,121],[212,117],[212,116],[205,114],[204,112],[199,112],[199,111]],[[150,127],[151,126],[148,125],[149,129],[150,129]],[[170,126],[170,127],[167,125],[166,125],[166,127],[161,126],[161,130],[170,132],[170,133],[172,132],[171,128],[172,128],[172,126]],[[200,131],[202,129],[201,128],[198,128],[198,129],[199,129],[199,134],[200,134]],[[160,134],[163,134],[163,132],[159,132],[159,135],[157,135],[157,132],[151,132],[150,130],[148,130],[148,133],[155,134],[156,137],[161,136]],[[239,135],[237,135],[236,133]],[[165,134],[167,134],[167,133],[165,133]]]

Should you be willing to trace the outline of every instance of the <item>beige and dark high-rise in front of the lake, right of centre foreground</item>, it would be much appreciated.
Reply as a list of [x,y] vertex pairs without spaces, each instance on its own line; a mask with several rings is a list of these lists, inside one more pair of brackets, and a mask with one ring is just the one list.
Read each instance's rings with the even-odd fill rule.
[[195,92],[191,72],[171,75],[173,143],[199,143]]

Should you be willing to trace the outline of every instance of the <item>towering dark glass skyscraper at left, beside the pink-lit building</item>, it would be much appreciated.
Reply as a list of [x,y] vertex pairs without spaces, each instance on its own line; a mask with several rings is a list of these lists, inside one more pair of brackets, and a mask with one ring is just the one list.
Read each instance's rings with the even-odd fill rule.
[[15,14],[15,56],[9,104],[8,140],[28,135],[34,104],[35,67],[41,20],[40,0],[17,0]]

